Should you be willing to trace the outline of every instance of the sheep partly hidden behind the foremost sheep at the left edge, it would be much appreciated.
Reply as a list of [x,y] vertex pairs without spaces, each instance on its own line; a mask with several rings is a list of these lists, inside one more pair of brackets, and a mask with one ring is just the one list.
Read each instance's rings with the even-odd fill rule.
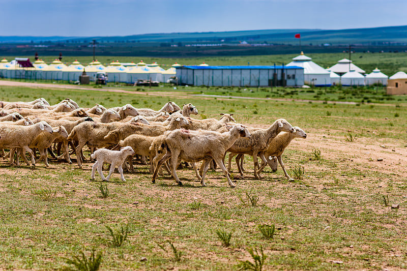
[[[48,148],[57,138],[67,138],[68,132],[63,126],[58,126],[52,130],[52,134],[47,132],[40,133],[31,143],[28,145],[30,148],[38,148],[41,156],[35,162],[38,163],[44,159],[45,166],[49,167],[48,164]],[[25,150],[22,152],[23,159],[25,158]],[[18,157],[18,153],[17,153]]]

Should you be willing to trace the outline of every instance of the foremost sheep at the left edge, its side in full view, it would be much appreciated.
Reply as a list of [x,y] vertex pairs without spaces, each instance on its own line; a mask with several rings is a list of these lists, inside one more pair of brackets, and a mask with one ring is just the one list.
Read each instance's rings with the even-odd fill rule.
[[[23,148],[31,154],[31,163],[35,166],[33,150],[28,145],[36,138],[41,131],[46,131],[52,134],[52,127],[42,121],[30,126],[16,125],[0,125],[0,134],[2,140],[0,147],[2,148]],[[10,153],[10,163],[13,163],[14,151]]]

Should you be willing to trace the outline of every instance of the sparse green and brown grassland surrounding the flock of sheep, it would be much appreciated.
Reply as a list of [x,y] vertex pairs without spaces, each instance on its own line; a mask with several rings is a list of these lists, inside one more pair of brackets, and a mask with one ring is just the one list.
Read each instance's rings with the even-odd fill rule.
[[[136,165],[136,173],[125,174],[126,183],[114,173],[103,198],[99,182],[90,180],[91,163],[82,170],[53,160],[51,169],[2,161],[0,269],[64,269],[65,258],[94,248],[103,252],[102,270],[237,270],[240,261],[252,261],[247,248],[260,245],[268,256],[264,270],[407,268],[404,100],[334,104],[194,93],[0,87],[1,100],[44,97],[56,103],[70,97],[83,107],[131,103],[158,109],[169,100],[192,102],[198,118],[232,112],[239,122],[264,128],[284,117],[308,134],[293,140],[283,156],[290,175],[298,164],[305,174],[288,182],[279,167],[255,180],[247,159],[248,172],[235,180],[235,189],[221,172],[210,172],[208,187],[200,187],[191,169],[179,170],[184,186],[178,187],[168,175],[153,185],[147,166]],[[356,139],[346,141],[349,135]],[[312,154],[315,149],[321,158]],[[255,206],[246,193],[258,197]],[[386,206],[383,195],[400,208]],[[127,224],[128,239],[113,247],[106,226],[116,231]],[[260,233],[263,224],[275,225],[272,239]],[[227,248],[219,229],[232,232]],[[158,246],[167,240],[181,252],[179,261],[168,244],[167,252]]]

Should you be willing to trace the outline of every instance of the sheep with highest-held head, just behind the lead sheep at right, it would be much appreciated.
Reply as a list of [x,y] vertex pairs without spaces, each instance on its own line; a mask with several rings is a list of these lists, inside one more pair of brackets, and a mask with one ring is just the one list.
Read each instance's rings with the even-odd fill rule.
[[[261,175],[257,172],[257,155],[265,163],[267,162],[263,152],[267,149],[268,144],[280,132],[294,132],[294,128],[284,118],[277,119],[268,129],[250,129],[251,138],[238,139],[227,152],[235,154],[247,154],[253,156],[254,177],[260,179]],[[223,160],[222,160],[223,161]],[[242,172],[240,172],[243,175]]]

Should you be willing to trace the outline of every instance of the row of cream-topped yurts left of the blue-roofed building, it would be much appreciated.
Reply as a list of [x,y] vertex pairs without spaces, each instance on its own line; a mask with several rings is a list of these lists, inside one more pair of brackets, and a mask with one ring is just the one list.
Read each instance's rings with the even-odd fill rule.
[[103,66],[96,60],[92,61],[88,66],[83,66],[78,61],[74,61],[71,65],[67,66],[58,59],[55,59],[49,65],[40,59],[35,61],[33,66],[34,68],[20,68],[15,60],[8,62],[7,59],[3,59],[0,61],[0,77],[76,81],[79,80],[79,76],[85,71],[91,81],[95,80],[96,73],[105,72],[109,82],[134,83],[138,79],[166,82],[170,77],[176,76],[176,67],[181,65],[176,63],[169,69],[164,70],[157,63],[146,64],[141,61],[135,64],[133,62],[120,63],[115,61],[108,66]]

